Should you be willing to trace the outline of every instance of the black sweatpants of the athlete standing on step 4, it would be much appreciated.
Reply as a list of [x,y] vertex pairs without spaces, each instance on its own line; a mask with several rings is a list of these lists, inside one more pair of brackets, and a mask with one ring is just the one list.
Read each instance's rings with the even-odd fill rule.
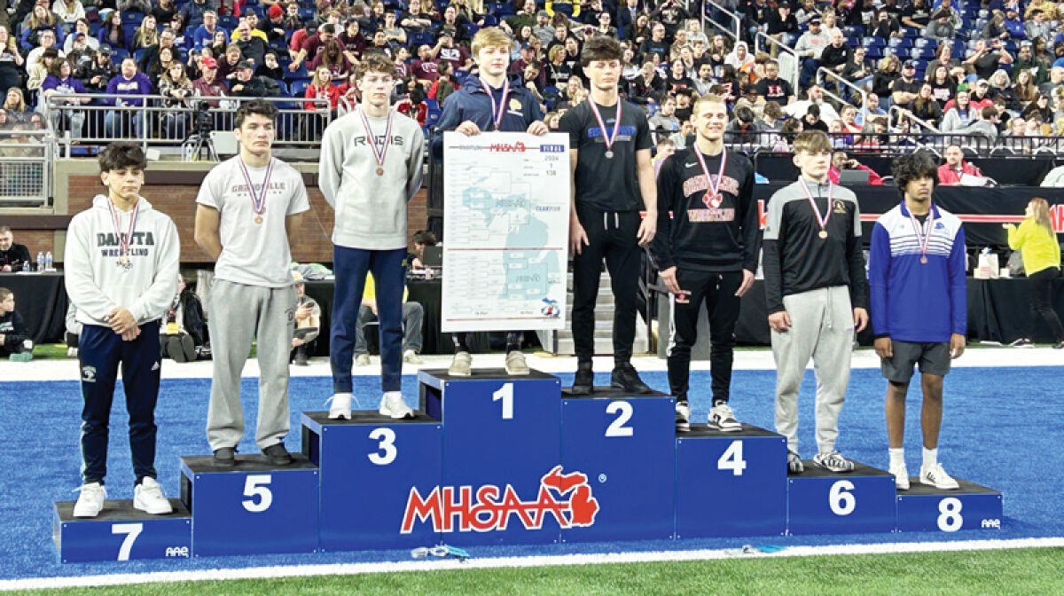
[[677,401],[687,400],[691,348],[698,340],[698,311],[705,303],[710,319],[710,371],[713,403],[727,402],[731,392],[735,321],[738,320],[743,271],[696,271],[677,267],[680,289],[689,292],[684,301],[672,298],[669,326],[668,384]]

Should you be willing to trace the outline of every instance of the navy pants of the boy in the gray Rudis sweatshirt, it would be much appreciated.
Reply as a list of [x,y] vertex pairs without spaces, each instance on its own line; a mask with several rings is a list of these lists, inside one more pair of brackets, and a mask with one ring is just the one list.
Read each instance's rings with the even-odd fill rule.
[[406,249],[363,250],[333,247],[336,288],[330,327],[329,363],[333,392],[351,393],[351,365],[358,337],[359,308],[372,271],[377,288],[377,317],[381,336],[381,388],[399,391],[402,381],[402,293],[406,282]]

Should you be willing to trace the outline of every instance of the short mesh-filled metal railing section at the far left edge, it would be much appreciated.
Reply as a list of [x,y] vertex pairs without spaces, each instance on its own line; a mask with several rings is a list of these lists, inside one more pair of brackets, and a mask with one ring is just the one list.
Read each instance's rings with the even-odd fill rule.
[[52,136],[46,130],[0,130],[0,206],[51,204]]

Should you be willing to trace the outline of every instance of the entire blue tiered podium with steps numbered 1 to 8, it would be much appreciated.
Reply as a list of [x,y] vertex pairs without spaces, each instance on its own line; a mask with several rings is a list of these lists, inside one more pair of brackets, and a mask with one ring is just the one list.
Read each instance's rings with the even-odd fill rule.
[[1001,493],[959,480],[940,491],[857,464],[811,461],[788,475],[786,441],[692,425],[676,400],[596,387],[573,396],[553,375],[418,374],[414,419],[304,412],[288,466],[237,456],[181,459],[174,512],[106,501],[93,519],[55,503],[60,560],[552,544],[631,540],[1000,529]]

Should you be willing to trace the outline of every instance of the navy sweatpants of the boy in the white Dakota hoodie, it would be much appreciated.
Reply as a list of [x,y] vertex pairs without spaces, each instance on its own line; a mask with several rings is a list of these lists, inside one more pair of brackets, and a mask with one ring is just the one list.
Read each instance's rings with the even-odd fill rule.
[[159,400],[159,321],[140,326],[132,342],[107,327],[86,325],[78,347],[81,365],[81,476],[87,484],[103,483],[107,474],[107,424],[115,396],[119,363],[126,387],[126,411],[130,415],[130,451],[133,474],[139,483],[155,478],[155,402]]

